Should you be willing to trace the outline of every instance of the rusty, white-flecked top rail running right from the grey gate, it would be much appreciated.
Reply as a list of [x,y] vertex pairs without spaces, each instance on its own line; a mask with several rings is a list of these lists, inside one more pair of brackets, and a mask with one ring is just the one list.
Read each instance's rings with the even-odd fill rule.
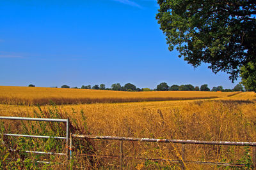
[[74,138],[88,138],[88,139],[110,139],[123,141],[147,141],[159,143],[188,143],[200,145],[233,145],[233,146],[256,146],[256,142],[234,142],[234,141],[196,141],[196,140],[180,140],[180,139],[152,139],[152,138],[127,138],[118,136],[91,136],[84,134],[72,134]]

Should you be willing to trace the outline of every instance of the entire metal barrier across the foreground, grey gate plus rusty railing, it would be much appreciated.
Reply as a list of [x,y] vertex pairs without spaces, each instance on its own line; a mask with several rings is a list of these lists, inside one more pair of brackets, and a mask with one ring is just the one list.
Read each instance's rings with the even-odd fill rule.
[[[66,123],[66,136],[38,136],[38,135],[28,135],[28,134],[3,134],[5,136],[20,136],[27,138],[54,138],[54,139],[65,139],[66,140],[66,153],[54,153],[54,152],[39,152],[39,151],[26,151],[28,153],[38,153],[38,154],[56,154],[56,155],[66,155],[67,160],[72,159],[72,138],[84,138],[84,139],[107,139],[107,140],[118,140],[120,141],[120,151],[119,155],[86,155],[92,157],[115,157],[120,159],[120,167],[123,167],[123,159],[133,159],[131,157],[124,157],[123,155],[123,141],[143,141],[143,142],[153,142],[153,143],[180,143],[182,144],[182,152],[180,160],[168,160],[168,159],[156,159],[156,158],[139,158],[143,160],[155,160],[155,161],[168,161],[175,162],[182,165],[182,169],[186,168],[186,163],[194,164],[208,164],[217,166],[236,166],[244,167],[245,164],[232,164],[228,162],[204,162],[204,161],[193,161],[186,160],[186,145],[230,145],[230,146],[252,146],[252,161],[253,169],[256,169],[256,142],[234,142],[234,141],[196,141],[196,140],[180,140],[180,139],[150,139],[150,138],[127,138],[118,136],[91,136],[84,134],[71,134],[69,120],[67,119],[56,119],[56,118],[26,118],[26,117],[0,117],[2,120],[29,120],[29,121],[44,121],[44,122],[63,122]],[[44,161],[42,161],[44,162]],[[49,162],[44,162],[49,163]],[[70,164],[71,165],[71,164]]]

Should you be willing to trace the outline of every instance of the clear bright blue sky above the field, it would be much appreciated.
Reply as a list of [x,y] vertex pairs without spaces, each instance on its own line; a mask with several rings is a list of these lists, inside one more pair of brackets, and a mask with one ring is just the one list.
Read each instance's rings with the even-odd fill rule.
[[169,52],[157,9],[154,0],[1,0],[0,85],[238,83]]

